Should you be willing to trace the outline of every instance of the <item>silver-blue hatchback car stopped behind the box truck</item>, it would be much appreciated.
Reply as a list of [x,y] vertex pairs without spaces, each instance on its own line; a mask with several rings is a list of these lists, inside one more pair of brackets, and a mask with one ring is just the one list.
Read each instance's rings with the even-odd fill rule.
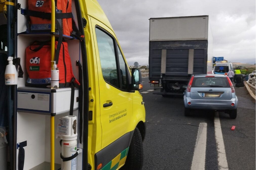
[[184,92],[185,116],[189,116],[192,109],[203,109],[224,111],[235,119],[237,103],[233,84],[225,75],[193,75]]

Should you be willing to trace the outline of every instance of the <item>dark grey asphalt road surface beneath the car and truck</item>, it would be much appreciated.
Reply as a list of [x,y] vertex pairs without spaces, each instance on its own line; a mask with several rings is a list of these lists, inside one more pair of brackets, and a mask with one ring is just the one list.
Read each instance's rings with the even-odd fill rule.
[[[236,119],[214,111],[198,111],[185,117],[183,97],[166,98],[153,94],[148,78],[142,78],[142,81],[143,89],[140,92],[145,102],[147,128],[143,142],[143,170],[191,170],[192,161],[202,155],[203,161],[195,165],[201,164],[205,170],[255,169],[255,102],[245,87],[235,88],[239,100]],[[227,160],[228,168],[222,166],[222,160],[218,161],[218,155],[223,152],[215,137],[215,120],[218,118],[226,152],[222,160]],[[199,143],[196,141],[200,123],[207,124],[205,153],[199,152],[197,156],[195,153],[194,156],[196,143]],[[232,126],[236,126],[235,130],[231,130]]]

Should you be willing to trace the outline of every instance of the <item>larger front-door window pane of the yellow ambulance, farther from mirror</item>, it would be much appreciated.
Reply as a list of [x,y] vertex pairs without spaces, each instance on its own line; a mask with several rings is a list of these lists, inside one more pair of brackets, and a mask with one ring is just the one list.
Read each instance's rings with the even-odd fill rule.
[[98,28],[95,31],[103,78],[106,82],[119,88],[120,83],[116,68],[114,39]]

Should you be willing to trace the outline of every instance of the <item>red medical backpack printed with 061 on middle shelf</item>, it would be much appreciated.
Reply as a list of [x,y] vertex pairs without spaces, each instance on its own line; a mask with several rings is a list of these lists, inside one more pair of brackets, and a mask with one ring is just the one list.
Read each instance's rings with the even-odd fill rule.
[[[55,42],[57,48],[58,41]],[[67,42],[61,42],[59,58],[55,58],[59,68],[59,87],[70,87],[71,82],[80,85],[74,78]],[[34,41],[26,48],[26,86],[46,88],[51,85],[51,45],[49,41]]]

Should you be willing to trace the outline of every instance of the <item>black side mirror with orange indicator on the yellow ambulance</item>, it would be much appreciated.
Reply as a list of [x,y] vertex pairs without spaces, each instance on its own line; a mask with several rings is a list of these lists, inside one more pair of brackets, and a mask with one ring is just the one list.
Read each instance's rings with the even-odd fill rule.
[[132,68],[132,83],[130,84],[132,90],[141,90],[143,84],[141,82],[141,71],[137,68]]

